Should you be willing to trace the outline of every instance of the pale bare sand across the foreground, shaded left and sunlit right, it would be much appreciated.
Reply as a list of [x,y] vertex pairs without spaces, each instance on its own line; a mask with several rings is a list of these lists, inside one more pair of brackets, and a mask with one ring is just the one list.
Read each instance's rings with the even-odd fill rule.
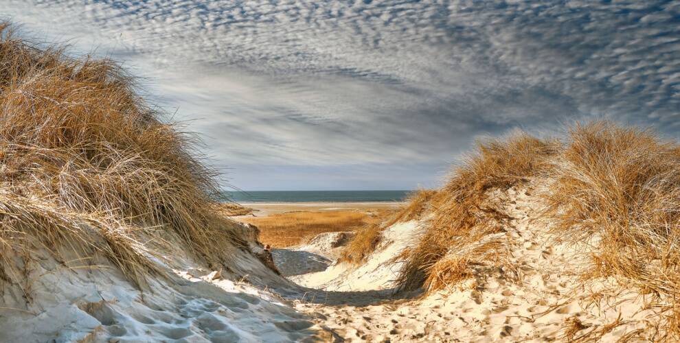
[[[164,256],[157,262],[168,279],[150,277],[151,291],[143,293],[111,268],[67,270],[45,259],[35,267],[41,276],[32,285],[33,307],[22,309],[20,289],[3,295],[0,340],[545,342],[592,332],[608,342],[644,328],[651,310],[634,294],[608,302],[603,292],[593,303],[571,288],[578,247],[551,238],[537,220],[541,203],[530,193],[497,194],[512,217],[497,235],[510,242],[509,265],[517,270],[477,265],[470,280],[427,296],[396,292],[394,283],[403,252],[427,225],[424,218],[387,228],[360,265],[335,262],[352,233],[324,233],[303,246],[274,250],[282,274],[298,285],[245,252],[233,261],[236,270],[250,271],[241,280],[181,252]],[[261,251],[254,241],[251,249]],[[621,325],[607,329],[612,323]]]

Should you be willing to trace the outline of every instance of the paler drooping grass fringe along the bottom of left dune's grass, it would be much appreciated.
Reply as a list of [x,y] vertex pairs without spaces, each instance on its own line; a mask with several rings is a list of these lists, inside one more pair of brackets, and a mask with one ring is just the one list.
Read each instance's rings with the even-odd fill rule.
[[[16,282],[38,250],[54,253],[59,263],[85,264],[95,255],[108,258],[131,283],[146,285],[148,273],[163,274],[146,257],[154,255],[139,242],[135,228],[106,213],[82,213],[54,206],[39,198],[26,198],[8,189],[0,190],[0,279]],[[69,260],[70,259],[70,260]],[[87,260],[87,261],[86,261]],[[27,280],[23,280],[27,281]],[[30,294],[25,294],[30,298]]]

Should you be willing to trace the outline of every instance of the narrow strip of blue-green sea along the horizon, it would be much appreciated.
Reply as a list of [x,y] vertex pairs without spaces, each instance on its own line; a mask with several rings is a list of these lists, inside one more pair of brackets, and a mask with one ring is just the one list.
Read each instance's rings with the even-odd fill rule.
[[225,191],[236,202],[390,202],[402,201],[411,191]]

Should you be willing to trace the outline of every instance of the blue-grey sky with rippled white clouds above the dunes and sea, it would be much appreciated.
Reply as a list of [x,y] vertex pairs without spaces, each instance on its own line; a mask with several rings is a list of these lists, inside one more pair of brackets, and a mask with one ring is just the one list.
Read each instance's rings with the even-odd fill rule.
[[577,119],[680,132],[679,1],[0,0],[0,17],[124,62],[240,189],[433,187],[480,136]]

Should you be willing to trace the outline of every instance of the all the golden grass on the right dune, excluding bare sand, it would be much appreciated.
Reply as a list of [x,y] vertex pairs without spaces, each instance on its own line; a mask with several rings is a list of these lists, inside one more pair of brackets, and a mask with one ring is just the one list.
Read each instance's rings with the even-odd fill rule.
[[655,339],[679,340],[680,144],[608,121],[577,123],[564,141],[518,133],[479,143],[425,201],[427,230],[409,252],[400,286],[433,292],[470,278],[473,265],[516,267],[505,264],[508,242],[496,235],[508,220],[497,195],[539,179],[541,219],[554,239],[582,247],[588,261],[578,265],[581,283],[574,287],[614,279],[620,289],[637,289],[658,311],[650,318]]

